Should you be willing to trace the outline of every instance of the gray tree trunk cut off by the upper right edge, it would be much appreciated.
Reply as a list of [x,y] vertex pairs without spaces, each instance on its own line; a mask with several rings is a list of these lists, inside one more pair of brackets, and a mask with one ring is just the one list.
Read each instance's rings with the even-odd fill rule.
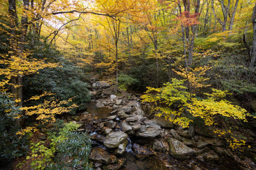
[[252,43],[252,56],[251,56],[251,61],[249,63],[249,67],[253,67],[256,60],[256,3],[255,3],[255,6],[253,7],[251,21],[253,24],[253,43]]

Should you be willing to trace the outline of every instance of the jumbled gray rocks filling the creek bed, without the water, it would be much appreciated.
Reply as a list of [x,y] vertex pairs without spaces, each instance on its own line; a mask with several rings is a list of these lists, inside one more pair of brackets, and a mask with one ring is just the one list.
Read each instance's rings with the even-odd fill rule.
[[132,150],[138,159],[155,152],[168,152],[173,158],[182,160],[193,157],[200,162],[218,163],[223,156],[234,159],[228,149],[221,148],[226,144],[223,139],[202,136],[193,126],[185,129],[162,117],[149,119],[144,115],[138,96],[124,92],[117,97],[111,94],[113,90],[106,82],[95,82],[93,87],[97,89],[92,92],[96,107],[113,109],[112,116],[91,121],[98,133],[93,139],[105,146],[105,149],[93,148],[90,155],[97,170],[116,170],[125,164],[125,158],[120,155],[125,153],[128,138],[135,139]]

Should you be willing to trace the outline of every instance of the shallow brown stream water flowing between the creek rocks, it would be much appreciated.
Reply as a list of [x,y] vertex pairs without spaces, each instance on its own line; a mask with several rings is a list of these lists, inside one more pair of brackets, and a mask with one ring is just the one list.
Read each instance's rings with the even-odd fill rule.
[[[111,116],[110,112],[113,110],[108,109],[106,107],[97,108],[95,106],[95,103],[90,102],[87,104],[87,119],[88,119],[88,125],[91,126],[90,128],[90,135],[91,136],[97,136],[102,137],[101,134],[97,133],[101,130],[94,129],[95,127],[92,126],[91,121],[92,120],[100,120],[104,119],[106,117]],[[117,118],[115,120],[117,122],[117,125],[120,125],[120,120]],[[88,129],[87,129],[88,130]],[[115,128],[114,131],[118,131],[120,129]],[[195,166],[199,166],[202,170],[236,170],[233,165],[222,165],[222,164],[212,164],[207,162],[200,162],[195,158],[191,158],[190,160],[177,160],[169,156],[168,153],[157,153],[155,155],[152,155],[151,157],[144,158],[142,160],[136,158],[135,154],[132,150],[132,144],[136,143],[138,139],[134,136],[131,136],[128,138],[128,145],[125,148],[125,153],[119,158],[125,158],[126,163],[125,165],[120,168],[120,170],[191,170],[192,169],[197,170]],[[109,150],[106,148],[102,143],[99,143],[97,141],[93,141],[93,147],[100,147],[104,150],[107,150],[108,152],[113,152],[113,150]],[[193,168],[194,166],[194,168]],[[235,165],[236,166],[236,165]],[[233,168],[232,168],[233,167]],[[200,169],[200,170],[201,170]]]

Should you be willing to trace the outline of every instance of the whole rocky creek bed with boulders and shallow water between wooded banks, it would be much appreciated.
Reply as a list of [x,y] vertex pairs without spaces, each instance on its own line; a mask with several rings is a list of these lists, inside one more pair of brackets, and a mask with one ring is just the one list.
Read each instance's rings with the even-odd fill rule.
[[[87,130],[93,144],[90,160],[95,170],[249,170],[256,165],[225,148],[220,138],[200,130],[148,117],[149,105],[140,95],[113,95],[107,82],[92,84],[86,112],[72,117]],[[253,133],[253,132],[251,132]],[[201,134],[201,135],[200,135]],[[254,140],[255,141],[255,140]]]

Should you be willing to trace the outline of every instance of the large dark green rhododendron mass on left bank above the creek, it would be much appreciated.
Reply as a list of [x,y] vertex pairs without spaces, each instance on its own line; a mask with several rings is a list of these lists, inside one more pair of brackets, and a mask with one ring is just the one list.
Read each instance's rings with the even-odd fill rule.
[[[79,105],[70,113],[74,114],[77,109],[84,109],[84,103],[90,101],[88,87],[85,82],[88,77],[82,70],[74,65],[62,64],[62,67],[46,68],[38,74],[24,78],[25,97],[40,94],[42,91],[56,93],[56,97],[61,100],[73,98],[73,103]],[[72,105],[73,103],[69,103]],[[69,106],[67,105],[67,106]]]

